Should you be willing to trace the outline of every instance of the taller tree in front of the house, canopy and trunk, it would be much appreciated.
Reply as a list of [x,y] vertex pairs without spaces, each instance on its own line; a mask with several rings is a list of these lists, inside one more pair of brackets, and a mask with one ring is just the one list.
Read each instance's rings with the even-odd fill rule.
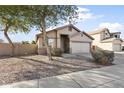
[[50,48],[48,46],[46,29],[64,22],[72,22],[77,17],[76,6],[71,5],[42,5],[25,6],[27,15],[31,23],[43,33],[43,43],[47,48],[49,60],[52,60]]

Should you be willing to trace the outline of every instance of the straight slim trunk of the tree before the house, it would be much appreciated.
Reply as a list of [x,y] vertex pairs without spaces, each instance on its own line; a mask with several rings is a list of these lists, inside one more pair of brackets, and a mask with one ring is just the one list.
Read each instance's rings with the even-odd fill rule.
[[47,39],[47,34],[46,34],[46,25],[45,25],[45,21],[42,21],[42,32],[43,32],[43,42],[45,44],[45,47],[47,49],[47,55],[49,58],[49,61],[52,61],[52,54],[51,54],[51,50],[50,47],[48,45],[48,39]]

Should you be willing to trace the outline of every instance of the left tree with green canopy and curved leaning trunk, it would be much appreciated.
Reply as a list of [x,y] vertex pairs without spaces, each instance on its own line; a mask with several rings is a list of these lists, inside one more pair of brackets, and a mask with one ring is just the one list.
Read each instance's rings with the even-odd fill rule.
[[12,48],[12,56],[14,56],[14,44],[8,36],[8,32],[29,32],[30,24],[28,18],[23,16],[22,6],[0,6],[0,26],[1,31],[8,40]]

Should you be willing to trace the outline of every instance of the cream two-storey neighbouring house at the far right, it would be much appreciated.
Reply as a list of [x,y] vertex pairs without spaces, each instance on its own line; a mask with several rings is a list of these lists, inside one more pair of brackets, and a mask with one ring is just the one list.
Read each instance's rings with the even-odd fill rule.
[[88,34],[95,39],[92,45],[98,46],[104,50],[122,50],[122,39],[120,38],[121,32],[110,33],[109,29],[103,28],[97,31],[89,32]]

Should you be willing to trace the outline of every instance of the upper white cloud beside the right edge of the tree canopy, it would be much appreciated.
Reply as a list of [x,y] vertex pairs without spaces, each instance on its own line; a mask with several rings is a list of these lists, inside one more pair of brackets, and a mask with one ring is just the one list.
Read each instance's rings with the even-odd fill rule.
[[91,12],[90,9],[88,8],[82,8],[82,7],[78,7],[78,22],[80,21],[86,21],[89,19],[97,19],[97,18],[102,18],[104,17],[104,15],[95,15]]

